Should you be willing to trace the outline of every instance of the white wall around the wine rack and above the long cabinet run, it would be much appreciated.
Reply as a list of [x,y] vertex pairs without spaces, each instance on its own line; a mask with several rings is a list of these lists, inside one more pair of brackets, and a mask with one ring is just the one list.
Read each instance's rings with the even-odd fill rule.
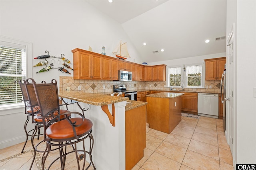
[[[73,63],[71,50],[88,50],[89,46],[96,53],[101,53],[104,46],[106,55],[115,57],[112,51],[122,40],[127,42],[131,56],[127,61],[133,62],[136,59],[136,62],[141,63],[140,56],[122,26],[83,0],[0,0],[0,16],[0,35],[31,42],[33,57],[46,55],[44,51],[47,50],[55,57],[60,57],[63,53]],[[63,63],[60,59],[47,60],[49,63],[54,61],[54,67],[60,67]],[[61,61],[60,64],[58,60]],[[33,59],[33,65],[40,61],[42,60]],[[34,67],[32,70],[32,78],[36,82],[50,82],[52,79],[59,82],[59,76],[73,76],[58,69],[36,74],[41,68],[43,67]],[[18,123],[8,115],[9,112],[5,110],[0,114],[0,148],[14,145],[17,138],[21,140],[18,143],[24,141],[24,108],[12,114],[13,117],[19,117],[15,119],[20,121]],[[24,116],[24,120],[20,120],[20,115]],[[20,128],[15,133],[10,133],[14,126]],[[9,128],[3,129],[4,127]]]

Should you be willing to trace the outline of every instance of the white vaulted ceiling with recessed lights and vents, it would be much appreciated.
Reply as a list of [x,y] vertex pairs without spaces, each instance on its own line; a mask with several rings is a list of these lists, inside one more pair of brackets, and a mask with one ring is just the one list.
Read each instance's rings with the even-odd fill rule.
[[85,1],[122,24],[146,62],[226,52],[226,0]]

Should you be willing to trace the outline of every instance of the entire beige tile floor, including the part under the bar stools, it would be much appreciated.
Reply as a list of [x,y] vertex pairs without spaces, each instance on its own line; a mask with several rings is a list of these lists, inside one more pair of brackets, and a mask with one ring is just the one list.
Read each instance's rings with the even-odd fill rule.
[[[37,140],[36,140],[37,141]],[[20,151],[24,143],[0,150],[0,170],[28,170],[32,161],[30,141],[24,153]],[[40,146],[41,149],[44,146]],[[72,148],[70,148],[72,149]],[[50,158],[58,151],[50,153]],[[42,153],[36,153],[32,170],[41,170]],[[49,160],[46,164],[49,164]],[[74,170],[75,156],[69,155],[65,169]],[[95,165],[97,168],[97,165]],[[59,164],[51,169],[57,170]],[[92,170],[93,168],[90,168]],[[226,142],[221,119],[209,117],[183,117],[182,121],[167,134],[147,125],[144,157],[132,170],[233,170],[232,155]]]

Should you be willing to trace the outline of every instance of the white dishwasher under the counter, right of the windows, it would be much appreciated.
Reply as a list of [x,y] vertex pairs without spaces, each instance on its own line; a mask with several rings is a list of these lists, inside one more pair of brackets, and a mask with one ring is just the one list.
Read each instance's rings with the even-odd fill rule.
[[198,115],[218,119],[219,97],[218,94],[198,93]]

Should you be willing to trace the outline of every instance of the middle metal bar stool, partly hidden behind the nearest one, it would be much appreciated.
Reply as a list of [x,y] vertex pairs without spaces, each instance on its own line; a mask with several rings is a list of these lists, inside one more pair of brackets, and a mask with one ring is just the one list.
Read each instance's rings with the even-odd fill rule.
[[[39,150],[38,149],[38,145],[40,145],[42,142],[44,142],[44,140],[40,141],[36,145],[34,144],[34,138],[37,136],[38,139],[39,139],[39,136],[43,135],[43,133],[40,134],[40,128],[43,127],[43,121],[42,121],[42,119],[38,118],[39,116],[41,116],[41,109],[38,106],[34,86],[33,86],[32,83],[30,83],[30,81],[35,82],[33,79],[28,78],[28,79],[25,80],[24,86],[25,86],[25,89],[26,89],[26,95],[28,97],[28,103],[29,103],[28,106],[30,107],[30,110],[32,111],[32,113],[31,113],[32,123],[34,123],[34,129],[33,129],[34,131],[31,135],[31,144],[32,144],[32,147],[34,149],[33,160],[32,160],[31,165],[30,165],[30,169],[31,169],[32,165],[34,163],[35,157],[36,157],[36,152],[44,152],[44,150]],[[46,84],[46,83],[44,81],[42,81],[42,84]],[[34,108],[37,108],[37,110],[34,109]],[[60,119],[65,119],[65,116],[62,115],[62,113],[66,113],[67,111],[68,110],[59,110],[59,112],[56,111],[54,114],[58,115],[60,113],[60,115],[61,115]],[[70,114],[68,114],[67,116],[70,117]],[[38,134],[37,134],[37,132],[38,132]],[[56,150],[56,148],[51,149],[50,151],[52,151],[52,150]]]

